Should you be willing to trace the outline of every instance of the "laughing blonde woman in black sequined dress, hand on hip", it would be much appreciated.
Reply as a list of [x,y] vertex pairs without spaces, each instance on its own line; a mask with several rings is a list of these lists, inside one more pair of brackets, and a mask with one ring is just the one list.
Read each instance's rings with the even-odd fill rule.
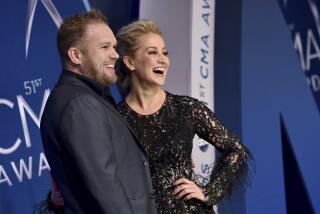
[[[214,213],[213,205],[246,179],[249,152],[203,103],[162,89],[170,60],[152,21],[121,28],[117,41],[120,73],[130,81],[118,110],[148,154],[159,213]],[[192,171],[195,134],[222,153],[205,186],[196,184]],[[54,189],[53,193],[59,195]],[[63,204],[59,197],[53,198],[54,204],[59,205],[58,200]]]

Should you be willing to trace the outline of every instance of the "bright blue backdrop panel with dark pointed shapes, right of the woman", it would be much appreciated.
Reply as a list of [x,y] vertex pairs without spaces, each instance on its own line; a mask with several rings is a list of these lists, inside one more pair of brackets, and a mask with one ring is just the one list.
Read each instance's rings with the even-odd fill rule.
[[242,132],[256,164],[247,213],[320,213],[320,2],[242,2]]

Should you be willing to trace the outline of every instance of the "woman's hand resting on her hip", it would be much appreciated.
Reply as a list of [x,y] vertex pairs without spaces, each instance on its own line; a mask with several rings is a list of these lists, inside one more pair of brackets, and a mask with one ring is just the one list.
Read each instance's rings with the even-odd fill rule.
[[173,195],[177,199],[189,200],[191,198],[198,199],[202,202],[207,202],[208,197],[205,197],[202,189],[193,181],[185,178],[178,179],[174,185],[176,186]]

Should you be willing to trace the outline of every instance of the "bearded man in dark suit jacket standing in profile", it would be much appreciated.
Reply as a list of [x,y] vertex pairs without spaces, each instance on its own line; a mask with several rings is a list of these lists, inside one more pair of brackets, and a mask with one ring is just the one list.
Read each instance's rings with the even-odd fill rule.
[[57,35],[64,68],[41,120],[65,213],[156,213],[145,151],[114,107],[116,39],[101,12],[67,18]]

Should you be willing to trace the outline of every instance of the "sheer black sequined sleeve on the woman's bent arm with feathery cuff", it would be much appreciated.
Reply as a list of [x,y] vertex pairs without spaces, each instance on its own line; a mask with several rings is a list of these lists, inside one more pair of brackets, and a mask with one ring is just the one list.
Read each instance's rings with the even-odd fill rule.
[[196,99],[189,104],[192,106],[196,134],[221,152],[213,165],[210,182],[203,187],[204,194],[209,198],[208,205],[215,205],[241,181],[247,183],[248,161],[252,156],[208,107]]

